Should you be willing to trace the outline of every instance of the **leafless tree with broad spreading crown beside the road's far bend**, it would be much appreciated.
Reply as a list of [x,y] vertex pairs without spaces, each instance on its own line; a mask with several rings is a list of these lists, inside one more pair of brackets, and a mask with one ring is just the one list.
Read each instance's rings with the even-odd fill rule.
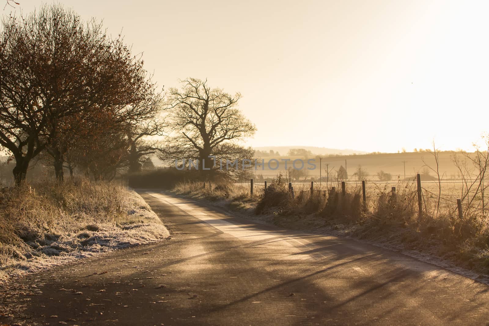
[[251,159],[253,151],[235,142],[256,131],[255,125],[237,108],[241,94],[231,95],[195,78],[181,83],[181,90],[170,88],[167,94],[166,108],[173,133],[166,146],[160,148],[159,157],[199,159],[206,169],[213,167],[212,155]]

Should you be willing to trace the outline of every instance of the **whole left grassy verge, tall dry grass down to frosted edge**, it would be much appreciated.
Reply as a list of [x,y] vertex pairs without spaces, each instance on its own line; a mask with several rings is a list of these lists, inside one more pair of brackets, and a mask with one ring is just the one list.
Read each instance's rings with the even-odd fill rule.
[[0,196],[0,282],[103,252],[156,242],[168,230],[122,185],[78,180]]

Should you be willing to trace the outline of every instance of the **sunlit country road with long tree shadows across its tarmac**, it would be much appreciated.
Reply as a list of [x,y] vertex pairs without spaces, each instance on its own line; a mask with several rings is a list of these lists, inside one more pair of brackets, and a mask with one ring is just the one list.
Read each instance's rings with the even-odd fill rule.
[[172,239],[22,278],[0,302],[17,308],[14,320],[0,318],[0,325],[489,321],[489,287],[437,266],[352,239],[258,224],[189,199],[139,193]]

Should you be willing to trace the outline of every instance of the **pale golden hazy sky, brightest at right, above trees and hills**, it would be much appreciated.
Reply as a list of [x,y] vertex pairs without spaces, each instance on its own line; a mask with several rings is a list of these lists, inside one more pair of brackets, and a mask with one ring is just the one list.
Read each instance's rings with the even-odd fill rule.
[[60,3],[122,29],[165,88],[240,91],[253,146],[469,150],[489,130],[488,1]]

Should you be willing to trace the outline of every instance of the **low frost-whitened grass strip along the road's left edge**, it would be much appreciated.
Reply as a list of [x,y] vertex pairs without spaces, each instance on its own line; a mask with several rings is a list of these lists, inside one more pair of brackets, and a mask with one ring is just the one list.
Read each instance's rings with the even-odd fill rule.
[[45,235],[44,239],[26,241],[32,252],[20,253],[22,259],[1,265],[0,282],[9,276],[37,272],[115,249],[167,238],[168,230],[143,198],[132,190],[127,193],[133,209],[127,211],[126,217],[121,217],[116,223],[86,224],[80,221],[77,232]]

